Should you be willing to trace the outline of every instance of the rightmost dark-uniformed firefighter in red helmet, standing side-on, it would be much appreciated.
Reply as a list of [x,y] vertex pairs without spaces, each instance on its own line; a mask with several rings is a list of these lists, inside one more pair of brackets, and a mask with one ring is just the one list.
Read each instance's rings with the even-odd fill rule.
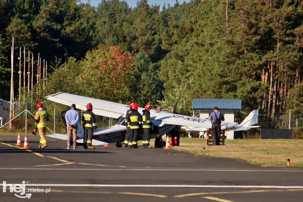
[[146,104],[142,114],[143,146],[147,148],[152,148],[152,146],[149,145],[149,140],[151,139],[151,127],[153,126],[149,112],[150,110],[151,110],[151,104]]

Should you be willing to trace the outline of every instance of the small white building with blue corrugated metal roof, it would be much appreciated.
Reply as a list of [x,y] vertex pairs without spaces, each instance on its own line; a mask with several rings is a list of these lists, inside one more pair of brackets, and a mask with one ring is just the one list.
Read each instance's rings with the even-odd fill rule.
[[[241,99],[193,99],[192,109],[193,111],[200,111],[200,118],[208,118],[214,111],[214,107],[218,107],[219,111],[223,113],[225,121],[234,123],[235,112],[241,111],[242,101]],[[202,133],[200,133],[202,135]],[[234,131],[225,132],[227,139],[234,139]]]

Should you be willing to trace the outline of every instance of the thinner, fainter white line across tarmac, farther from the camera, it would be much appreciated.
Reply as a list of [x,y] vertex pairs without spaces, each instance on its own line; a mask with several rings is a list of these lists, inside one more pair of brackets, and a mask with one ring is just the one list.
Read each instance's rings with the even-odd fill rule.
[[209,172],[303,172],[303,170],[213,170],[213,169],[102,169],[102,168],[0,168],[0,170],[113,170],[113,171],[209,171]]

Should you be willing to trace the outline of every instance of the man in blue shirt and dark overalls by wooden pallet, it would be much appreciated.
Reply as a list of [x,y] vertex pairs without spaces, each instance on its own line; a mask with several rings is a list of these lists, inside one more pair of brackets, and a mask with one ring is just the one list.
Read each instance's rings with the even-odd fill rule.
[[211,113],[208,120],[211,120],[211,136],[213,145],[220,145],[221,121],[224,121],[224,116],[219,112],[218,107],[214,107],[214,112]]

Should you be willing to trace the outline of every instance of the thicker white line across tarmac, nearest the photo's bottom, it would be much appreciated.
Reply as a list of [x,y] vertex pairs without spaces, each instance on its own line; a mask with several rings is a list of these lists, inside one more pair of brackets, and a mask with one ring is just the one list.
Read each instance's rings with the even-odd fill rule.
[[[15,184],[12,184],[15,185]],[[0,186],[3,186],[0,184]],[[276,185],[192,185],[192,184],[26,184],[37,187],[193,187],[193,188],[263,188],[263,189],[303,189],[303,186]]]

